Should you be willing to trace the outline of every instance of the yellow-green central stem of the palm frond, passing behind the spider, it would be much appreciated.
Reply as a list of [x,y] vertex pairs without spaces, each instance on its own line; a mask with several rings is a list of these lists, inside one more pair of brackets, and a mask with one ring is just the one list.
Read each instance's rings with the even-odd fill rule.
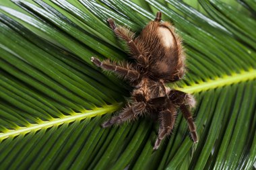
[[[224,76],[222,78],[205,81],[202,83],[197,83],[187,87],[179,88],[179,90],[184,91],[186,93],[197,93],[200,91],[207,91],[209,89],[215,89],[218,87],[223,87],[225,85],[231,85],[234,83],[249,81],[253,79],[256,79],[255,69],[251,69],[250,71],[244,71],[244,72],[241,72],[240,74],[233,74],[230,76]],[[115,112],[119,110],[120,107],[121,107],[121,103],[106,105],[105,107],[102,107],[102,108],[96,108],[94,110],[86,110],[83,113],[74,113],[71,116],[65,116],[63,118],[57,118],[57,119],[53,119],[47,122],[42,122],[39,124],[31,124],[31,126],[28,126],[28,127],[20,127],[19,129],[15,129],[15,130],[7,130],[7,132],[0,133],[0,140],[8,138],[9,136],[26,134],[28,132],[31,132],[32,130],[40,130],[42,128],[49,128],[55,125],[74,122],[75,120],[83,120],[85,118],[101,116],[109,112]]]

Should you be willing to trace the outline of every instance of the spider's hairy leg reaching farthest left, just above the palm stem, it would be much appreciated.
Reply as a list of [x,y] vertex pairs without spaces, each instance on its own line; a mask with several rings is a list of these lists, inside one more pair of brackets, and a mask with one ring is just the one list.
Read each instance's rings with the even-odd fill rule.
[[124,67],[121,67],[119,65],[115,65],[113,63],[108,63],[108,61],[101,62],[98,58],[92,57],[91,61],[94,62],[94,64],[104,70],[113,71],[117,73],[118,75],[121,75],[122,77],[125,77],[125,79],[130,80],[137,80],[139,79],[140,75],[138,71],[135,71],[133,69],[127,69]]

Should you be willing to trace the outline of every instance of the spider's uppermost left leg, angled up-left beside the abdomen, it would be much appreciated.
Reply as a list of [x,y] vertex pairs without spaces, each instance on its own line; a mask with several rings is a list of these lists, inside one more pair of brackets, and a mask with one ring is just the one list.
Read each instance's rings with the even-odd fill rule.
[[127,46],[129,47],[129,50],[131,54],[135,57],[135,59],[147,68],[149,66],[148,58],[146,58],[146,56],[143,55],[143,52],[141,52],[137,44],[135,44],[133,40],[135,34],[131,32],[128,28],[116,26],[115,22],[111,18],[108,18],[107,21],[110,28],[112,28],[117,37],[127,42]]

